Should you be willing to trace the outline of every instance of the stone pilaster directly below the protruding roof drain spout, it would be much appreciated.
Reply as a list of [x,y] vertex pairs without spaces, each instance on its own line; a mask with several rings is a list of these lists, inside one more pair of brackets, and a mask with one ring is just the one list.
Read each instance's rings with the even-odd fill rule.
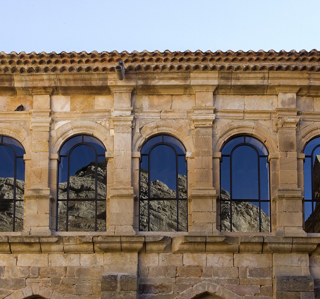
[[110,188],[109,233],[135,234],[133,230],[133,187],[131,185],[132,122],[130,87],[111,87],[114,93],[113,186]]

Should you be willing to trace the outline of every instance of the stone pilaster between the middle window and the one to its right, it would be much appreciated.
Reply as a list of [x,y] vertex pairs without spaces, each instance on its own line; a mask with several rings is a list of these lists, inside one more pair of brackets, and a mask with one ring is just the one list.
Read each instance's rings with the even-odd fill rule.
[[[203,96],[201,92],[201,96]],[[212,93],[212,92],[211,92]],[[197,98],[196,93],[196,98]],[[200,101],[200,100],[199,100]],[[201,102],[201,101],[200,101]],[[212,186],[212,122],[214,107],[195,107],[191,120],[195,141],[195,184],[190,195],[192,202],[192,230],[190,234],[212,235],[217,232],[216,200]]]

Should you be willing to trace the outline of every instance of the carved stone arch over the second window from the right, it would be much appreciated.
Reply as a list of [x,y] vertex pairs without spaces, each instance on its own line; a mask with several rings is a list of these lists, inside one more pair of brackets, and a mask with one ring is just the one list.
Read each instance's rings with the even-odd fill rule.
[[251,135],[252,137],[259,139],[267,147],[269,153],[276,153],[278,151],[276,141],[273,139],[273,136],[268,128],[260,124],[254,124],[254,126],[235,126],[232,123],[225,126],[225,130],[218,137],[213,151],[221,152],[225,142],[232,137],[236,137],[236,135]]

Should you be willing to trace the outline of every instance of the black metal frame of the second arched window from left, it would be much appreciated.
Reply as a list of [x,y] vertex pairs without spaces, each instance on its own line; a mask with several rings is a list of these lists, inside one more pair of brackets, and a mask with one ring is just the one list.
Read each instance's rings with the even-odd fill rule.
[[[78,137],[79,135],[76,135],[76,136],[72,136],[71,138],[69,138],[68,140],[66,140],[61,148],[60,148],[60,151],[62,149],[62,147],[66,144],[66,142],[68,142],[70,139],[72,138],[75,138],[75,137]],[[68,154],[67,155],[60,155],[60,151],[59,151],[59,165],[60,165],[60,161],[61,161],[61,158],[62,157],[67,157],[68,158],[68,176],[67,176],[67,199],[59,199],[59,188],[57,188],[57,204],[56,204],[56,231],[58,231],[58,203],[60,201],[66,201],[67,202],[67,219],[66,219],[66,232],[68,232],[68,212],[69,212],[69,201],[95,201],[95,232],[97,231],[97,203],[98,201],[106,201],[106,199],[103,199],[103,198],[98,198],[97,196],[97,189],[98,189],[98,182],[97,182],[97,179],[98,179],[98,172],[97,172],[97,165],[98,165],[98,157],[105,157],[105,153],[104,154],[98,154],[96,149],[94,148],[94,146],[92,146],[91,144],[87,143],[87,142],[84,142],[84,136],[87,136],[87,137],[92,137],[94,139],[97,139],[91,135],[86,135],[86,134],[81,134],[80,136],[82,136],[82,142],[77,142],[76,144],[74,144],[70,150],[68,151]],[[99,142],[100,140],[97,139]],[[81,146],[81,145],[86,145],[86,146],[90,146],[94,153],[95,153],[95,198],[72,198],[70,199],[69,198],[69,187],[70,187],[70,154],[72,153],[72,150],[74,148],[76,148],[77,146]],[[107,161],[106,161],[106,165],[107,165]],[[58,184],[59,185],[59,167],[58,167]]]

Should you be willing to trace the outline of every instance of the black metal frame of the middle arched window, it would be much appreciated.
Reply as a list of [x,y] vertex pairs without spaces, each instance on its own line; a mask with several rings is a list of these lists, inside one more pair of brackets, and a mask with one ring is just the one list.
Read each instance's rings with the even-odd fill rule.
[[[151,138],[149,138],[141,147],[141,151],[143,150],[143,147],[146,146],[148,144],[148,141],[150,141],[152,138],[154,137],[158,137],[161,136],[162,137],[162,142],[158,142],[155,145],[153,145],[149,152],[146,154],[140,154],[140,167],[139,167],[139,231],[140,231],[140,202],[141,201],[148,201],[148,232],[150,231],[150,201],[154,201],[154,200],[159,200],[159,201],[176,201],[177,202],[177,232],[179,232],[179,201],[187,201],[187,227],[188,227],[188,195],[186,196],[186,198],[179,198],[179,189],[178,189],[178,185],[179,185],[179,180],[178,180],[178,157],[182,156],[186,159],[186,149],[184,147],[184,145],[182,144],[182,142],[178,139],[175,138],[171,135],[168,134],[159,134],[159,135],[155,135],[152,136]],[[164,142],[164,136],[169,136],[172,138],[175,138],[182,146],[184,149],[184,154],[178,154],[176,149],[169,143]],[[176,156],[176,198],[150,198],[150,153],[151,151],[159,145],[166,145],[169,146],[173,149],[175,156]],[[140,188],[140,175],[141,175],[141,161],[142,161],[142,157],[148,157],[148,199],[141,199],[140,193],[141,193],[141,188]],[[187,161],[186,161],[186,171],[188,173],[188,167],[187,167]],[[188,186],[188,176],[187,176],[187,186]]]

